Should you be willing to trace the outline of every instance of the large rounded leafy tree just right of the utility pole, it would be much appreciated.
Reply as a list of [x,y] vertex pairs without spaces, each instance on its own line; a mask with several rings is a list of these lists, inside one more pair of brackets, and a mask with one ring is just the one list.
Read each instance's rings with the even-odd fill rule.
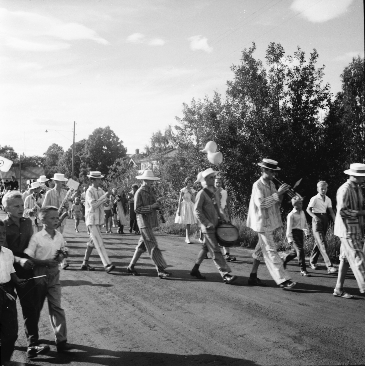
[[100,171],[108,174],[109,167],[117,158],[126,156],[123,141],[109,126],[96,128],[85,141],[84,152],[81,156],[80,179],[86,180],[89,171]]

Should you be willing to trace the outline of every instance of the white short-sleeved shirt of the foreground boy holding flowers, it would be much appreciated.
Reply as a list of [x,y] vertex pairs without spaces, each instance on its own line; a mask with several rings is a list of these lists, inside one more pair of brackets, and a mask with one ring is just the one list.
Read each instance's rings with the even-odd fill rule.
[[56,251],[60,250],[64,245],[62,234],[57,230],[55,230],[55,233],[52,239],[51,235],[43,228],[43,230],[37,232],[37,234],[34,234],[30,238],[29,245],[24,250],[24,253],[36,259],[54,259]]

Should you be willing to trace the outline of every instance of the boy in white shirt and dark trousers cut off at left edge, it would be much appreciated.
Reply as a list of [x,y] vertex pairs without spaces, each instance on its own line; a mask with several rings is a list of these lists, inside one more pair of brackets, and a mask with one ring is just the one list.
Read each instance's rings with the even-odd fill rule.
[[18,338],[18,314],[16,312],[15,294],[11,281],[24,287],[26,280],[15,274],[14,255],[3,245],[6,243],[5,224],[0,220],[0,340],[1,365],[10,361],[14,344]]

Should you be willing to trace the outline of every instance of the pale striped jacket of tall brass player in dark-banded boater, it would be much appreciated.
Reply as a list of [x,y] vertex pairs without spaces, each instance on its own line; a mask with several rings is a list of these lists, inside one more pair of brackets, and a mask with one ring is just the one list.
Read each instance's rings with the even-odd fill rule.
[[281,199],[272,181],[262,177],[252,185],[246,226],[257,232],[273,231],[283,225],[280,216]]

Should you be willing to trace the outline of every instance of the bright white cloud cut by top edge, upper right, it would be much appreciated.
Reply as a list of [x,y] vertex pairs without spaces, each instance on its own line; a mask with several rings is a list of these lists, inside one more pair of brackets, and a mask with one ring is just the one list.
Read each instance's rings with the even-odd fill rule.
[[302,12],[301,16],[312,23],[322,23],[344,14],[352,2],[353,0],[294,0],[290,8]]

